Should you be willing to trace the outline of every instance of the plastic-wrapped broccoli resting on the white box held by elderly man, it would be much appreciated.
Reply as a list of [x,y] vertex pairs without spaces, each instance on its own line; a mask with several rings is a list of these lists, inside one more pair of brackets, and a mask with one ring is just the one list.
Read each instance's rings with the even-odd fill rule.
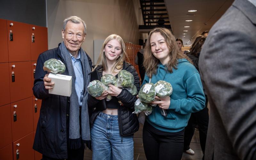
[[44,71],[51,72],[51,73],[63,73],[66,70],[66,66],[60,60],[56,60],[54,58],[46,60],[44,62]]

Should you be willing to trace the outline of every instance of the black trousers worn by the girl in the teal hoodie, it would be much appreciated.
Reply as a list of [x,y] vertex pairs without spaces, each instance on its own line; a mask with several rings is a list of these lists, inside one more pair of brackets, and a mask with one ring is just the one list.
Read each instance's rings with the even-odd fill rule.
[[184,130],[163,132],[145,121],[143,146],[147,160],[180,160],[183,153]]

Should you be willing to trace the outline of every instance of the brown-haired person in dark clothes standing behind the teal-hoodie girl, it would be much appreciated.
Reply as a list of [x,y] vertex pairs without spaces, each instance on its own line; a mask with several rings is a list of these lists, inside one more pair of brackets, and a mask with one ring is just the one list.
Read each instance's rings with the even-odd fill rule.
[[[194,66],[196,67],[199,73],[200,73],[198,68],[199,55],[205,39],[206,39],[205,36],[196,37],[196,40],[192,44],[192,47],[188,54],[188,57],[192,60]],[[203,85],[203,89],[204,89],[204,85]],[[206,135],[207,135],[208,123],[209,123],[209,114],[208,114],[208,108],[207,108],[208,98],[207,98],[205,89],[204,89],[204,96],[206,100],[204,109],[198,112],[192,113],[189,118],[188,125],[185,127],[184,151],[192,155],[195,154],[195,152],[189,147],[189,144],[194,135],[196,124],[198,124],[200,145],[203,153],[205,150]],[[204,156],[203,156],[203,159],[204,159]]]

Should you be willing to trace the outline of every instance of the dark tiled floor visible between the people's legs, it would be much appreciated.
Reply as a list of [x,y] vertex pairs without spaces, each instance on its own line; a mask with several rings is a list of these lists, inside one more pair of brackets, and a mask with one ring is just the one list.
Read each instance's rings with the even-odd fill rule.
[[[143,143],[142,143],[142,128],[143,125],[140,124],[140,129],[134,134],[134,160],[146,160],[144,154]],[[195,131],[195,134],[190,143],[190,148],[195,151],[195,155],[189,155],[183,152],[181,160],[200,160],[203,157],[203,152],[199,143],[199,132]],[[86,149],[84,152],[84,160],[92,159],[92,151]]]

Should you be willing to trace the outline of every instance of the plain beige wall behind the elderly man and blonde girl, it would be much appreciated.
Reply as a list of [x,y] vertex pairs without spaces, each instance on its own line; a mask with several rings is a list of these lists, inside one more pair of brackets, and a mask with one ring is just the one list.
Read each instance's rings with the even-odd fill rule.
[[125,42],[139,44],[139,0],[47,0],[48,48],[62,42],[63,20],[81,17],[87,25],[82,47],[93,61],[93,40],[110,34],[120,35]]

